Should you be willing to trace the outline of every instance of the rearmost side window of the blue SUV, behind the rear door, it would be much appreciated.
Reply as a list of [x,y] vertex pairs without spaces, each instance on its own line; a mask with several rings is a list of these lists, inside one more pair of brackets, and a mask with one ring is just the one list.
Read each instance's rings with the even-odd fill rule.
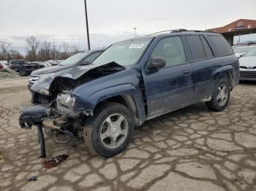
[[211,41],[217,48],[220,56],[233,55],[233,50],[223,36],[209,35]]

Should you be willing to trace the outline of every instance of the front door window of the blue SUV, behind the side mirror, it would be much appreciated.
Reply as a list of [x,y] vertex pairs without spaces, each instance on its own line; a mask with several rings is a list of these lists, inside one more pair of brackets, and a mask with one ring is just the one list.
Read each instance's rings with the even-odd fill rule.
[[162,39],[154,47],[151,57],[163,57],[166,60],[166,66],[173,66],[186,62],[184,46],[180,36],[173,36]]

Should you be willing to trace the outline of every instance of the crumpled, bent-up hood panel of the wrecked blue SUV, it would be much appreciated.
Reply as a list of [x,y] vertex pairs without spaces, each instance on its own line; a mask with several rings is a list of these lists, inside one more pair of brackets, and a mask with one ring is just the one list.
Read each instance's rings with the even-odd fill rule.
[[86,65],[86,66],[77,66],[75,68],[66,69],[64,71],[59,71],[55,74],[44,75],[39,78],[37,82],[34,82],[34,85],[30,87],[30,90],[33,92],[41,93],[44,95],[49,95],[50,85],[53,84],[54,81],[58,79],[66,78],[70,81],[80,78],[83,74],[90,71],[91,69],[104,69],[104,68],[118,68],[120,70],[125,69],[124,66],[120,66],[115,62],[107,63],[102,66],[97,66],[94,64]]

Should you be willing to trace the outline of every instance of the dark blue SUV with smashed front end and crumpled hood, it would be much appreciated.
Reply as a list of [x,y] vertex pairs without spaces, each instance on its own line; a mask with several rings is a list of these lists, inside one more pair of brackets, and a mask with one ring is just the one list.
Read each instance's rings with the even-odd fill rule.
[[159,32],[113,44],[90,65],[41,77],[20,124],[31,128],[37,118],[112,157],[146,120],[200,101],[222,111],[238,81],[238,58],[220,34]]

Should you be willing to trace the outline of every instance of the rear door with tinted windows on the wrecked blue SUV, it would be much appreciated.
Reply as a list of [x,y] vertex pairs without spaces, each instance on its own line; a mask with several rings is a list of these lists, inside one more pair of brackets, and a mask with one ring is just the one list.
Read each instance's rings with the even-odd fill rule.
[[205,36],[187,35],[187,42],[191,52],[192,80],[195,84],[192,100],[196,102],[211,96],[212,74],[220,64]]

